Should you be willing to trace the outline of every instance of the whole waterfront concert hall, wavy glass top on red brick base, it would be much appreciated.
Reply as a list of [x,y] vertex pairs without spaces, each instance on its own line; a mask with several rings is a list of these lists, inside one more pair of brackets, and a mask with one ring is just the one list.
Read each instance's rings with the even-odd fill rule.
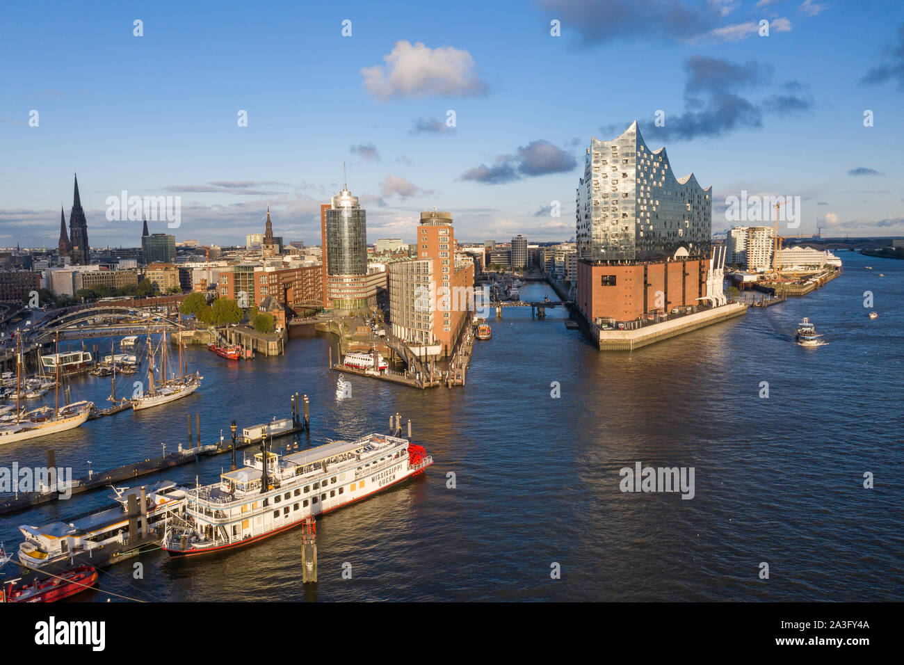
[[591,322],[628,328],[711,300],[712,188],[676,177],[632,122],[590,139],[576,213],[577,304]]

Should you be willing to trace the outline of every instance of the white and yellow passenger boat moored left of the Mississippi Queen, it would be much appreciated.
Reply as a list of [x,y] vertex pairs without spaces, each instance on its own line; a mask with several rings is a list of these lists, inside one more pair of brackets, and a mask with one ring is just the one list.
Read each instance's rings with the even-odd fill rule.
[[[81,552],[118,545],[118,554],[128,547],[128,498],[140,498],[140,488],[113,489],[118,503],[113,508],[80,515],[65,522],[51,522],[43,527],[23,525],[19,531],[25,537],[19,546],[19,561],[32,568],[69,561]],[[185,505],[185,490],[172,480],[148,485],[145,488],[148,527],[160,526],[166,514],[181,513]],[[114,554],[117,556],[117,554]]]

